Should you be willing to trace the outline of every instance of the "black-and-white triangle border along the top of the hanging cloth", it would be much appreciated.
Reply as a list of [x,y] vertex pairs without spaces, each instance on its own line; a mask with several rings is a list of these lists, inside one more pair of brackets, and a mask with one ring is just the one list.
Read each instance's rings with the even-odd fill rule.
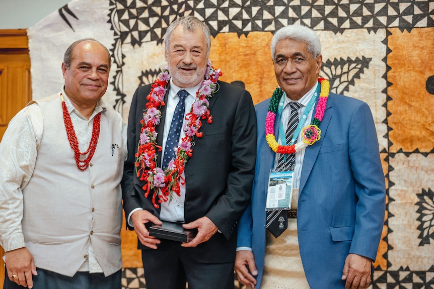
[[[287,0],[110,0],[111,16],[122,44],[140,46],[143,42],[163,41],[168,25],[177,17],[194,15],[206,23],[215,37],[222,32],[248,35],[270,31],[288,24],[302,23],[315,30],[335,33],[347,29],[377,31],[399,28],[434,27],[430,1],[378,0],[360,3],[337,1]],[[116,30],[116,29],[114,29]]]

